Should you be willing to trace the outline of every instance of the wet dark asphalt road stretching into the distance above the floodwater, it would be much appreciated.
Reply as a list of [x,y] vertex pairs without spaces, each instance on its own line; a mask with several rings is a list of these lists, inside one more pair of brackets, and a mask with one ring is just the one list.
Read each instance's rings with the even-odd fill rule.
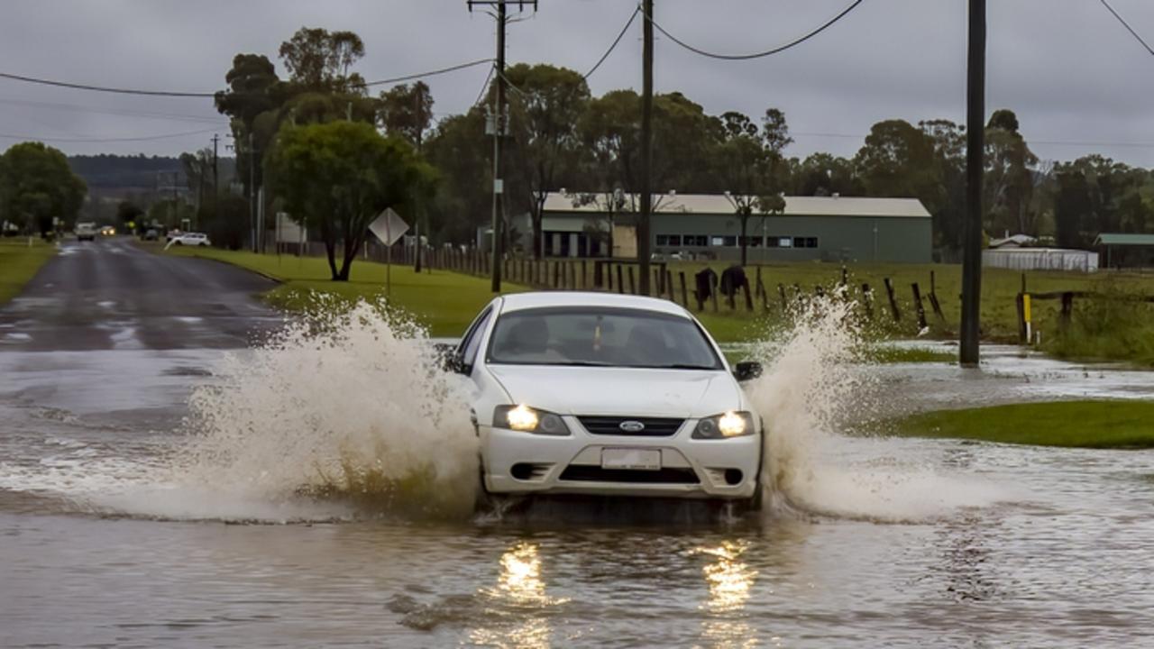
[[254,299],[273,286],[225,263],[153,254],[127,238],[67,241],[0,308],[0,350],[243,348],[279,322]]

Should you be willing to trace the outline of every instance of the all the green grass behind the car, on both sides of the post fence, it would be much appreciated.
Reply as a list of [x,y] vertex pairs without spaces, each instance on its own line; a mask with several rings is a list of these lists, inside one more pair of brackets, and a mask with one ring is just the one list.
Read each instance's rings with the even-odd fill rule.
[[[384,264],[358,261],[353,264],[353,281],[349,283],[335,283],[329,281],[328,266],[323,259],[294,258],[275,255],[254,255],[243,252],[228,252],[209,248],[204,251],[172,248],[174,254],[194,254],[218,259],[230,263],[272,276],[285,282],[284,285],[272,291],[267,299],[277,306],[285,308],[299,308],[307,290],[315,290],[323,293],[337,294],[342,298],[355,299],[358,297],[374,297],[381,294],[384,283]],[[674,294],[681,301],[680,274],[684,273],[687,282],[690,284],[689,294],[692,301],[692,275],[706,266],[705,262],[672,262],[669,270],[674,277]],[[711,262],[710,266],[719,273],[726,267],[725,262]],[[394,300],[422,318],[430,327],[434,335],[457,335],[469,323],[470,318],[488,301],[488,281],[484,277],[474,277],[464,274],[434,271],[433,274],[421,274],[417,277],[412,269],[406,266],[394,266]],[[538,273],[533,273],[531,267],[522,275],[525,266],[519,262],[510,268],[510,279],[505,282],[504,290],[522,291],[533,283],[534,278],[555,277],[556,267],[554,263],[539,267]],[[751,279],[756,279],[757,266],[749,267]],[[585,264],[584,281],[580,278],[580,264],[574,262],[563,267],[562,276],[569,276],[567,285],[592,286],[593,264]],[[956,264],[883,264],[883,263],[857,263],[847,267],[849,273],[849,284],[856,288],[854,296],[860,299],[860,288],[862,283],[868,283],[875,291],[874,303],[874,334],[881,337],[911,337],[917,333],[916,315],[911,285],[917,282],[923,294],[930,291],[930,273],[935,274],[935,291],[942,305],[944,322],[937,321],[930,311],[928,301],[924,308],[928,312],[932,331],[938,337],[952,337],[960,319],[960,284],[961,267]],[[793,286],[797,285],[803,291],[812,293],[815,288],[820,285],[826,289],[834,286],[841,278],[841,266],[837,263],[820,262],[797,262],[788,264],[763,264],[760,266],[762,281],[769,290],[769,299],[763,307],[760,300],[755,304],[755,309],[745,309],[743,298],[737,299],[737,308],[730,311],[722,298],[719,300],[718,311],[714,312],[711,305],[706,305],[705,311],[697,313],[696,305],[691,309],[697,313],[702,322],[710,331],[722,342],[740,342],[760,337],[769,327],[781,321],[784,309],[778,296],[778,284],[788,288],[788,293],[793,294]],[[615,273],[614,273],[615,276]],[[628,274],[623,274],[628,277]],[[901,320],[894,323],[889,314],[889,306],[885,297],[884,278],[889,277],[893,285],[899,303]],[[614,278],[614,288],[616,279]],[[1027,273],[1027,288],[1031,292],[1050,291],[1085,291],[1100,290],[1109,284],[1117,290],[1138,293],[1154,293],[1154,275],[1100,273],[1086,275],[1081,273]],[[628,279],[625,279],[628,286]],[[982,275],[982,333],[988,341],[1017,342],[1017,306],[1014,297],[1021,288],[1021,274],[1018,271],[1003,269],[987,269]],[[952,297],[951,297],[952,296]],[[1079,303],[1076,306],[1082,306]],[[765,308],[767,307],[767,308]],[[1057,331],[1057,315],[1059,303],[1057,300],[1037,301],[1034,305],[1034,329],[1042,331],[1043,342],[1055,337]],[[901,358],[885,358],[890,361],[916,361],[916,360],[945,360],[945,355],[936,353],[934,358],[914,358],[916,355],[906,352],[893,352]],[[924,355],[923,355],[924,356]],[[908,358],[907,358],[908,357]],[[1108,356],[1110,357],[1110,356]],[[1117,358],[1114,355],[1112,358]]]

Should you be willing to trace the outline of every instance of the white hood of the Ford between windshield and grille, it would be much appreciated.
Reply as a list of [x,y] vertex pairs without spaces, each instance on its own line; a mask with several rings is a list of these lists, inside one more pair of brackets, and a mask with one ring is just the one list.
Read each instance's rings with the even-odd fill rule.
[[559,415],[705,417],[743,409],[724,371],[628,367],[488,367],[514,403]]

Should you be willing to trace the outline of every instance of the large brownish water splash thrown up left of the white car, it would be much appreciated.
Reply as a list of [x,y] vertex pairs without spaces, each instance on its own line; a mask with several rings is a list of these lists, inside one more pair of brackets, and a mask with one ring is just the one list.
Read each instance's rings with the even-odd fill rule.
[[422,328],[384,304],[334,306],[226,357],[218,380],[194,391],[180,482],[272,501],[471,514],[478,455],[463,381],[440,370]]

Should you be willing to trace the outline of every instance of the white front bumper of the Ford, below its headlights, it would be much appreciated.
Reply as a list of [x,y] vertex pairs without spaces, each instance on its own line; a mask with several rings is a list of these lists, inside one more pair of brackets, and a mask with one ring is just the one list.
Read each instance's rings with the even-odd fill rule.
[[[571,435],[480,426],[485,488],[492,493],[747,499],[757,490],[762,433],[702,440],[697,419],[669,437],[605,435],[563,417]],[[660,470],[602,469],[606,448],[657,449]]]

